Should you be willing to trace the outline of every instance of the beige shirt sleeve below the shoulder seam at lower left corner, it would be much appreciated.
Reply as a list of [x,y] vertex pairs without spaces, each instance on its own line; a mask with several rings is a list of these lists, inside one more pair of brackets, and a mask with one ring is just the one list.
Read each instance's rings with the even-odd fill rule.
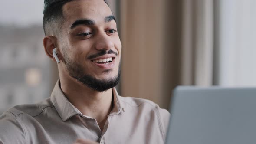
[[0,144],[25,144],[26,135],[19,117],[11,112],[0,115]]

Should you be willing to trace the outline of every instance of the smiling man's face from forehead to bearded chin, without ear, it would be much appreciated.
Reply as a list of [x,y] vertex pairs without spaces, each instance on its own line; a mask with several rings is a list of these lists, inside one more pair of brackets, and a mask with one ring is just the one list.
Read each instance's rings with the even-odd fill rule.
[[69,75],[98,91],[115,86],[121,42],[108,5],[103,0],[74,0],[63,6],[63,15],[59,45]]

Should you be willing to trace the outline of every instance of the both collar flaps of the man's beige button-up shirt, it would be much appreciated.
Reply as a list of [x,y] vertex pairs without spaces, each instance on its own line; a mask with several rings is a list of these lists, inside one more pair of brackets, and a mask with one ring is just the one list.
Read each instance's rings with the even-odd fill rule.
[[[119,95],[115,88],[112,88],[112,92],[114,96],[114,103],[112,111],[109,115],[118,115],[121,112],[121,105],[118,98]],[[69,100],[62,92],[59,80],[56,82],[56,85],[53,88],[53,92],[51,94],[51,101],[53,102],[53,105],[59,113],[59,116],[62,118],[62,121],[67,121],[74,115],[82,115],[82,113],[69,102]]]

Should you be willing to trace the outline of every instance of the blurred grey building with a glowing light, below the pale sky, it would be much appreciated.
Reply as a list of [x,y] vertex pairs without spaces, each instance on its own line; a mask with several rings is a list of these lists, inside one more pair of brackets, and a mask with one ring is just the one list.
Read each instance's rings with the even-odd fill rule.
[[42,39],[42,26],[0,26],[0,113],[49,97],[51,69]]

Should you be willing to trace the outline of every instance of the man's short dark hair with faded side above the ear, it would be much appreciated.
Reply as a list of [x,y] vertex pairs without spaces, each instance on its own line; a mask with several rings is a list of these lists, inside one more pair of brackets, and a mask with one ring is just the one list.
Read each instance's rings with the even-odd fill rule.
[[[74,0],[44,0],[43,30],[45,35],[47,35],[49,29],[56,29],[53,24],[61,23],[64,20],[62,7],[71,1]],[[107,0],[104,1],[108,5]]]

